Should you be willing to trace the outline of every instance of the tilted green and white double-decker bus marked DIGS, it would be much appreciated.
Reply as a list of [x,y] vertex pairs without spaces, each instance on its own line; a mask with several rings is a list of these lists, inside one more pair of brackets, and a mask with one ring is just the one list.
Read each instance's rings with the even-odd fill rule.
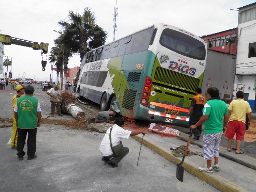
[[189,127],[187,113],[201,87],[207,45],[186,30],[154,24],[88,52],[82,59],[79,98],[120,115]]

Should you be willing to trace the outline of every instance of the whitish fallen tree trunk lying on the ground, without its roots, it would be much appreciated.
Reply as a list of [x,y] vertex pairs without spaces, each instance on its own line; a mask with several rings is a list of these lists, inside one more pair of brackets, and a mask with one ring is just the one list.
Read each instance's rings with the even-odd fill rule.
[[84,121],[84,117],[86,116],[84,111],[82,109],[80,109],[78,106],[76,106],[75,104],[73,104],[73,103],[64,102],[61,105],[61,109],[65,113],[72,115],[78,121]]

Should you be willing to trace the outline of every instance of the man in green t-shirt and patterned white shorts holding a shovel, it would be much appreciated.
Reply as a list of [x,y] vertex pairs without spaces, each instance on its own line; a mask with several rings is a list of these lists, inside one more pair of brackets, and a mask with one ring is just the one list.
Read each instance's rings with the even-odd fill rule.
[[[216,87],[207,89],[208,101],[204,105],[203,116],[190,129],[196,129],[197,126],[204,124],[203,153],[206,159],[206,165],[199,167],[202,172],[212,173],[212,168],[219,171],[219,145],[223,133],[223,127],[226,129],[229,121],[229,111],[226,103],[220,100],[219,90]],[[224,122],[223,122],[224,118]],[[214,164],[211,165],[212,158]]]

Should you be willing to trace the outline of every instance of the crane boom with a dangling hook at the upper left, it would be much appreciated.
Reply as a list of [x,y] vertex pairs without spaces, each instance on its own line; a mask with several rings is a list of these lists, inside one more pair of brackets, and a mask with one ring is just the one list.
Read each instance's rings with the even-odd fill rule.
[[[19,39],[19,38],[11,37],[9,35],[4,35],[4,34],[0,34],[0,42],[3,43],[4,45],[15,44],[15,45],[21,45],[26,47],[32,47],[33,50],[42,50],[42,53],[44,54],[48,52],[48,45],[49,45],[49,43],[41,42],[39,44],[37,42]],[[46,61],[42,60],[41,63],[42,63],[42,71],[45,71]]]

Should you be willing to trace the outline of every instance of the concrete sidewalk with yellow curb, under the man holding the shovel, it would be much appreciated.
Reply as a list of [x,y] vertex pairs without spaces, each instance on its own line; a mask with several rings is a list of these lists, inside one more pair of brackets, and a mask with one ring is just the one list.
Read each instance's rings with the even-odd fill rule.
[[[127,127],[131,129],[131,127]],[[181,157],[176,157],[170,151],[170,147],[186,146],[189,135],[180,133],[180,137],[161,137],[159,134],[146,134],[143,144],[151,150],[157,152],[168,161],[178,164]],[[141,142],[142,136],[133,136]],[[191,139],[189,149],[203,153],[202,139]],[[143,149],[141,149],[143,153]],[[213,162],[212,162],[213,163]],[[220,147],[219,164],[220,170],[214,173],[204,173],[198,170],[206,164],[206,160],[198,155],[186,156],[182,166],[185,170],[197,178],[205,181],[221,191],[255,191],[256,188],[256,159],[244,154],[235,154],[234,151],[227,152],[226,148]],[[246,165],[246,166],[245,166]],[[184,182],[186,182],[186,172],[184,172]]]

